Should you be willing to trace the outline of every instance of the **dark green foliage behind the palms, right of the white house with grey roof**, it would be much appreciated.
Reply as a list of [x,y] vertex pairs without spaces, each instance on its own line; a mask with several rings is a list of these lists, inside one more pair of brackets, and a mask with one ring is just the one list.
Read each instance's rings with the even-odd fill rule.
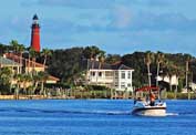
[[[151,52],[152,53],[152,52]],[[141,85],[147,84],[147,69],[144,63],[145,52],[134,52],[133,54],[125,54],[122,56],[123,64],[133,68],[135,71],[133,72],[133,85],[140,87]],[[153,84],[155,84],[155,74],[156,74],[156,63],[157,53],[153,53],[156,61],[151,61],[151,73]],[[183,87],[183,82],[185,82],[185,65],[187,60],[187,54],[171,54],[163,53],[164,62],[161,64],[162,74],[177,74],[180,79],[180,87]],[[149,55],[148,55],[149,58]],[[192,74],[189,74],[188,79],[192,79],[194,82],[196,81],[196,61],[195,58],[190,56],[190,69]],[[189,60],[189,59],[188,59]],[[146,60],[146,62],[149,62]],[[192,76],[192,77],[190,77]]]

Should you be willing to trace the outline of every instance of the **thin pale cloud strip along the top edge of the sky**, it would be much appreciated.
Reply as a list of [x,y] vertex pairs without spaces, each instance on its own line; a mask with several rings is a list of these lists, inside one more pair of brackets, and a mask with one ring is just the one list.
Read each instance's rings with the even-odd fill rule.
[[49,6],[49,7],[70,7],[78,9],[110,9],[117,4],[123,6],[169,6],[168,0],[29,0],[23,1],[22,6]]

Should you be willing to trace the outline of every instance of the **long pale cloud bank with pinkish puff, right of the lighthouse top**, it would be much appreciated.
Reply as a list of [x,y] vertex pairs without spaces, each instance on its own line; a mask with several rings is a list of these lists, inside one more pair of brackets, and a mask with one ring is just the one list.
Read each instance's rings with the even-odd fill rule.
[[[85,17],[86,15],[86,17]],[[137,32],[137,31],[175,31],[178,33],[196,33],[196,20],[179,13],[154,14],[147,12],[132,13],[130,9],[118,7],[113,13],[93,18],[82,14],[83,19],[42,20],[42,29],[58,33],[86,32]],[[79,15],[81,17],[81,15]],[[92,18],[90,18],[92,17]]]

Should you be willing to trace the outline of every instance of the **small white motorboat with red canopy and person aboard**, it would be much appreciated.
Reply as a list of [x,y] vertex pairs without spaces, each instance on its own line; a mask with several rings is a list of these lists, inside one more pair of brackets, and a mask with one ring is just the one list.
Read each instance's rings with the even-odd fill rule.
[[[132,114],[140,116],[166,116],[166,103],[162,100],[152,101],[151,94],[158,92],[159,87],[144,86],[135,90],[135,100]],[[147,98],[136,97],[138,92],[147,92]],[[159,97],[159,96],[158,96]]]

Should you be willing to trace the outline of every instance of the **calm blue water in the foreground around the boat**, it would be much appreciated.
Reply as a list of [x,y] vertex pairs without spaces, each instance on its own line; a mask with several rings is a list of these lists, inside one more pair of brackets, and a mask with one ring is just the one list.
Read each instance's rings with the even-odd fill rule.
[[196,135],[196,101],[167,101],[166,117],[131,115],[133,101],[0,101],[0,135]]

